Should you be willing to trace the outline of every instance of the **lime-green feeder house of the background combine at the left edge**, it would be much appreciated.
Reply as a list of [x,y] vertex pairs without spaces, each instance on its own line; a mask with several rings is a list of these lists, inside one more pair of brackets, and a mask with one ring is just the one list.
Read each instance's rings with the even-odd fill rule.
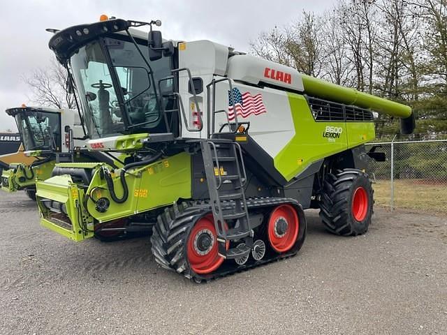
[[15,192],[23,190],[29,186],[36,184],[36,178],[45,180],[51,176],[56,161],[49,161],[33,168],[34,178],[27,179],[31,175],[31,165],[23,163],[11,164],[16,165],[17,168],[4,170],[1,174],[1,189],[6,192]]

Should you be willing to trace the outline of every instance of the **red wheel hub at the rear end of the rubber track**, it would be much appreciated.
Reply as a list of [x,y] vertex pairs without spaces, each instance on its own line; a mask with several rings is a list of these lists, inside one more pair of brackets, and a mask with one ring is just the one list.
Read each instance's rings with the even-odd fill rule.
[[300,221],[290,204],[281,204],[272,211],[268,221],[268,239],[278,253],[289,251],[298,237]]

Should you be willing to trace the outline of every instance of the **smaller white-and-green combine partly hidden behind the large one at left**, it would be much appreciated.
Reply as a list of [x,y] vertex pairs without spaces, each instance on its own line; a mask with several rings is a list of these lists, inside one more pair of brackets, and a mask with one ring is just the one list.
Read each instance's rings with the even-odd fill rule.
[[[22,163],[5,163],[1,174],[1,189],[6,192],[24,190],[29,198],[36,200],[36,181],[45,180],[57,174],[56,163],[89,164],[107,162],[114,168],[122,168],[120,159],[126,156],[112,156],[86,149],[85,131],[77,110],[54,109],[48,107],[15,107],[6,110],[6,114],[15,118],[24,147]],[[11,138],[11,136],[9,136]],[[17,140],[17,136],[15,136]],[[24,161],[24,157],[31,161]],[[9,157],[9,159],[13,159]],[[17,162],[17,161],[16,161]],[[60,207],[59,211],[64,211]],[[115,227],[116,228],[116,227]],[[147,229],[143,229],[143,232]],[[96,232],[100,239],[117,238],[127,232],[122,228],[113,232]]]

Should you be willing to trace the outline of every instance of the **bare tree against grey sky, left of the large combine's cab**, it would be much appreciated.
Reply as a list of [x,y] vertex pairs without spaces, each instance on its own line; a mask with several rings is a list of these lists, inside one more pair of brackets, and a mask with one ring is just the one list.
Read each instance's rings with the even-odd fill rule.
[[30,76],[23,77],[31,89],[30,101],[41,106],[74,108],[75,97],[68,91],[64,66],[52,59],[50,66],[36,68]]

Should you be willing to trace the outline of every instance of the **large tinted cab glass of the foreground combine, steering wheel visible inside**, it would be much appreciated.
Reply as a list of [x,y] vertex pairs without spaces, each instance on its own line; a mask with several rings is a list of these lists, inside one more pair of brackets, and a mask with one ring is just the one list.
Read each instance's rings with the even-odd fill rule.
[[[140,45],[140,50],[147,54],[146,45]],[[170,75],[170,57],[156,61],[147,58],[147,62],[150,68],[132,42],[117,38],[96,40],[71,57],[91,138],[134,133],[137,129],[166,131],[156,86]]]

